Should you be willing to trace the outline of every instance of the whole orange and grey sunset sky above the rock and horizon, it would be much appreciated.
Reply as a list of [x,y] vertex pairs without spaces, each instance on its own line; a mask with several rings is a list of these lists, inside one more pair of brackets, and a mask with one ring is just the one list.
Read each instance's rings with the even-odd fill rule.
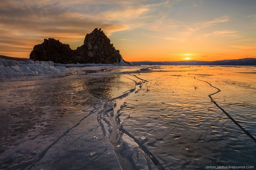
[[256,0],[0,0],[0,55],[101,28],[126,61],[256,58]]

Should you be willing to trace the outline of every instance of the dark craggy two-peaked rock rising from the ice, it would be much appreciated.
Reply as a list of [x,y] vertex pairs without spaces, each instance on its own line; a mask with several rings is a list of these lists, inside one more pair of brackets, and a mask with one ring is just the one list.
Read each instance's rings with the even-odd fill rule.
[[62,44],[59,40],[44,39],[42,44],[34,46],[29,59],[61,64],[112,64],[123,61],[119,50],[110,43],[110,39],[101,31],[101,28],[95,28],[92,33],[87,34],[84,44],[76,50],[72,50],[68,44]]

